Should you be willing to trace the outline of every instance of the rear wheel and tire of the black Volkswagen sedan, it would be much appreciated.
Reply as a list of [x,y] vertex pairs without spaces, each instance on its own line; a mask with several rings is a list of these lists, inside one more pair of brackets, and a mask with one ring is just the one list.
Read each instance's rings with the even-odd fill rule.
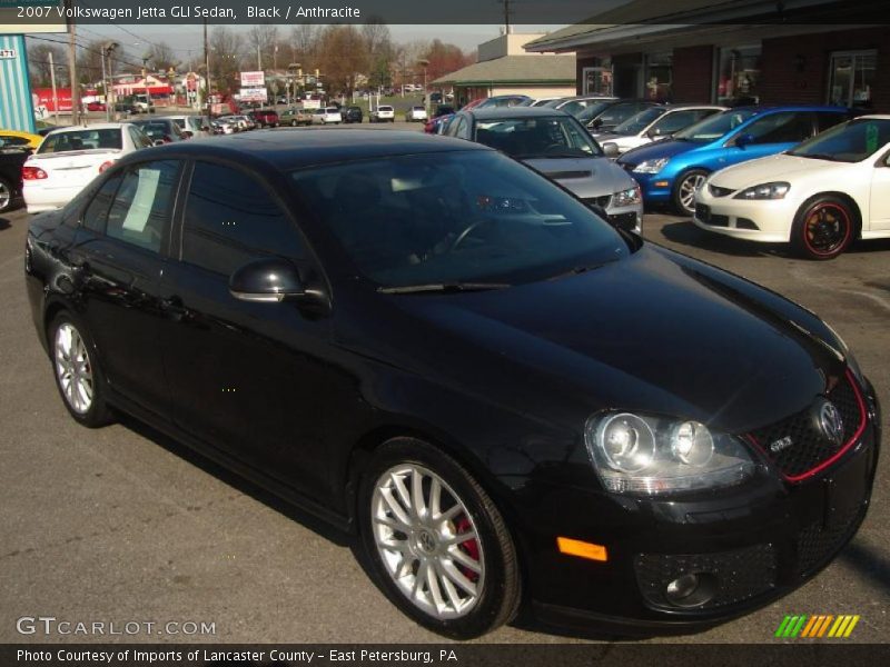
[[47,340],[56,388],[71,417],[89,428],[111,422],[111,410],[106,402],[105,375],[87,328],[62,311],[47,328]]

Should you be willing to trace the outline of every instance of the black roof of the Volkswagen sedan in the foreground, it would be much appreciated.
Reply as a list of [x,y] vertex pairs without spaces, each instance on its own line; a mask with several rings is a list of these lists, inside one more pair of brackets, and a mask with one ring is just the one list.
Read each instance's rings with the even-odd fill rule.
[[355,160],[467,150],[492,149],[463,139],[404,130],[297,131],[278,128],[197,138],[176,146],[147,148],[131,153],[127,160],[161,159],[164,156],[175,153],[178,157],[215,157],[239,163],[265,163],[274,169],[287,171]]

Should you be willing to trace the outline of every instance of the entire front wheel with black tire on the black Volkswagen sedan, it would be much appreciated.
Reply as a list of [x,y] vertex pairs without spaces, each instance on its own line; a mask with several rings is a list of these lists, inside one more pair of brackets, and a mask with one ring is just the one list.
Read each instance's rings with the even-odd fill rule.
[[385,442],[364,470],[357,510],[370,569],[405,615],[456,639],[515,617],[522,585],[513,539],[487,494],[449,456],[414,438]]

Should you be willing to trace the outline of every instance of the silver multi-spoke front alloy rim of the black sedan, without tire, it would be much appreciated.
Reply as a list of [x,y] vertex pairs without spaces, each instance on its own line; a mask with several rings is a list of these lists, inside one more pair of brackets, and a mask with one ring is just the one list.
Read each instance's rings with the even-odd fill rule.
[[380,561],[415,607],[461,618],[485,586],[482,542],[457,494],[432,470],[403,464],[376,481],[372,530]]

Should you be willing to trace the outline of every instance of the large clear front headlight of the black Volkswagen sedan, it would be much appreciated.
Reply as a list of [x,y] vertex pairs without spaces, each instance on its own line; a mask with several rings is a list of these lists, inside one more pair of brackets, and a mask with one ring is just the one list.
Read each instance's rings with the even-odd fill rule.
[[745,446],[692,420],[605,412],[587,420],[587,451],[603,486],[654,496],[739,484],[754,472]]

